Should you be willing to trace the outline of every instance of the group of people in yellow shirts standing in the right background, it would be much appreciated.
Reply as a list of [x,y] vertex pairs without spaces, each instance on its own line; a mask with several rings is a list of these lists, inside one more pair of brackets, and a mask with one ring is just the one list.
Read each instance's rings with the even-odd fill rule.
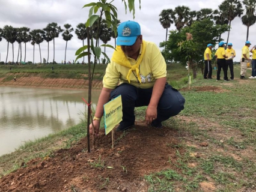
[[[224,72],[224,80],[230,81],[234,80],[234,66],[233,66],[233,59],[236,57],[236,51],[233,49],[233,44],[228,43],[227,49],[225,50],[225,46],[227,43],[221,41],[219,43],[219,48],[215,53],[218,70],[217,70],[217,79],[221,80],[220,74],[221,69]],[[242,58],[240,61],[241,71],[240,71],[240,79],[246,79],[245,74],[247,70],[247,64],[251,62],[250,52],[252,53],[252,76],[249,79],[256,79],[256,46],[252,47],[250,41],[245,42],[245,46],[242,49]],[[212,47],[213,44],[207,44],[207,48],[204,52],[204,79],[212,79]],[[228,79],[228,68],[230,68],[230,79]]]

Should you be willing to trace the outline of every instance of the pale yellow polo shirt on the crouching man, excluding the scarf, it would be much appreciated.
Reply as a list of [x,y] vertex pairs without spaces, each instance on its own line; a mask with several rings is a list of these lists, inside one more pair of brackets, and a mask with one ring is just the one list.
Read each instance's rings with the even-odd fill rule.
[[[159,48],[152,42],[145,41],[145,43],[147,47],[141,64],[139,65],[141,83],[138,82],[136,71],[132,71],[130,74],[130,84],[142,89],[152,88],[156,79],[166,77],[166,63]],[[142,47],[139,56],[141,55],[141,51]],[[128,56],[126,57],[131,65],[136,64],[135,59],[129,58]],[[137,59],[139,59],[139,57]],[[103,77],[103,87],[115,89],[119,83],[129,83],[126,79],[129,70],[130,68],[124,67],[111,60],[106,68],[105,76]]]

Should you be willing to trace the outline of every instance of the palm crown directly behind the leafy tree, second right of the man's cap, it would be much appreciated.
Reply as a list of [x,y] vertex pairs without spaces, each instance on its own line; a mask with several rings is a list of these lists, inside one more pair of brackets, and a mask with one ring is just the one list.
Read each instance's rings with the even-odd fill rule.
[[187,23],[189,20],[189,11],[190,8],[186,6],[175,7],[171,19],[174,21],[176,29],[180,32],[180,29]]

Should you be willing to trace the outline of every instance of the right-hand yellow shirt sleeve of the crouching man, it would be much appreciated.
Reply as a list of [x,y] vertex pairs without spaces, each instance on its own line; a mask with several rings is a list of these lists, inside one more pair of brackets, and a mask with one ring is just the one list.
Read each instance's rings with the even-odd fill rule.
[[166,63],[156,44],[151,48],[151,70],[155,79],[166,77]]

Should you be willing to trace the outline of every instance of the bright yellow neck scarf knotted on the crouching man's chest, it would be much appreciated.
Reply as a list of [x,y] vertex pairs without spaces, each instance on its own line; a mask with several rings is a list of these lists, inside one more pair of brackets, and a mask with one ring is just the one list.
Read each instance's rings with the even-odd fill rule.
[[136,61],[135,65],[130,64],[130,61],[126,58],[126,55],[124,54],[123,50],[121,49],[121,46],[117,46],[115,49],[116,49],[116,51],[114,52],[114,54],[112,56],[112,61],[116,62],[119,65],[123,65],[124,67],[130,68],[130,70],[127,74],[127,77],[126,77],[128,82],[130,83],[130,74],[132,73],[132,71],[136,71],[139,83],[141,83],[141,76],[139,76],[139,64],[141,64],[141,61],[145,54],[146,42],[144,40],[142,41],[141,56],[139,56],[139,59]]

